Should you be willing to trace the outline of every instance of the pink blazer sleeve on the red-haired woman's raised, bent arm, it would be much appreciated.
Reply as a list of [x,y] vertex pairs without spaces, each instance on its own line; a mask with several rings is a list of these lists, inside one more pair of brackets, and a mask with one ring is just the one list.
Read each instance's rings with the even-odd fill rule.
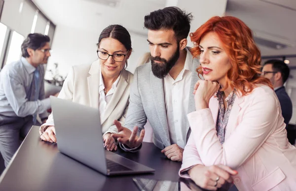
[[[263,94],[249,101],[242,121],[223,145],[217,137],[216,124],[209,108],[187,115],[195,148],[204,165],[224,164],[237,169],[259,149],[278,126],[280,109],[275,95]],[[188,148],[193,150],[191,144]],[[184,158],[190,156],[188,151],[185,153]],[[184,167],[187,166],[188,164]]]

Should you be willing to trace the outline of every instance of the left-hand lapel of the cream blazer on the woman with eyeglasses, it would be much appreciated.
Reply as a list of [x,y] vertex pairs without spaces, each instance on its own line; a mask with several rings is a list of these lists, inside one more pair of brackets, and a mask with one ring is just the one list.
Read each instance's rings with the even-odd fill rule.
[[[99,108],[99,84],[100,84],[100,64],[94,62],[89,69],[87,77],[90,106]],[[94,84],[97,84],[94,86]]]

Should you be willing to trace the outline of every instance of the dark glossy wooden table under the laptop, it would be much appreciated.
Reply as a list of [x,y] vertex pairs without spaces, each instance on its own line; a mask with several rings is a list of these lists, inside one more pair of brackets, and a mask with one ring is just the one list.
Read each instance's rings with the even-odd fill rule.
[[153,143],[138,153],[115,152],[155,169],[154,174],[106,177],[59,153],[57,144],[41,141],[33,126],[0,177],[0,191],[138,191],[132,178],[178,181],[181,162],[167,159]]

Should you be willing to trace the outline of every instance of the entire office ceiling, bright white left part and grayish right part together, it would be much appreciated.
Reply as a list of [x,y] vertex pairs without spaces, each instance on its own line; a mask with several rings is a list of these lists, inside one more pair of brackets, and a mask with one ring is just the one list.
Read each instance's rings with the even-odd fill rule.
[[[178,0],[33,1],[57,26],[101,32],[110,24],[121,24],[131,33],[146,36],[144,16],[165,7],[168,1]],[[182,3],[187,4],[190,1],[182,0]],[[192,0],[189,4],[192,3],[195,1]],[[194,12],[201,15],[195,16],[202,17],[205,11],[197,6]],[[243,20],[256,37],[288,46],[276,49],[259,45],[262,56],[296,54],[296,0],[228,0],[225,14]],[[296,66],[296,62],[290,62],[290,65]]]

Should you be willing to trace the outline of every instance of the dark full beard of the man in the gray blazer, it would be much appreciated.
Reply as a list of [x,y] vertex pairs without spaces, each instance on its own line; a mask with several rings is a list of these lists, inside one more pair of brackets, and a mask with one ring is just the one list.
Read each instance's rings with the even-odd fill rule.
[[[173,56],[167,61],[160,57],[150,57],[151,60],[151,70],[155,77],[163,79],[169,71],[172,69],[172,67],[176,64],[180,57],[180,50],[179,45],[177,47],[176,52],[173,54]],[[160,61],[162,63],[155,63],[154,61]]]

